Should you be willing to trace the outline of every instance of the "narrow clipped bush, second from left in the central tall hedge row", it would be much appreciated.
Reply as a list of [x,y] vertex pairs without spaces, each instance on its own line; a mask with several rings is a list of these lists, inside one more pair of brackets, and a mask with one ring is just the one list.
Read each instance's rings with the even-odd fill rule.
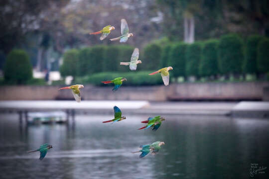
[[78,76],[88,75],[88,69],[90,67],[90,52],[89,47],[83,48],[79,51],[79,62],[78,62]]

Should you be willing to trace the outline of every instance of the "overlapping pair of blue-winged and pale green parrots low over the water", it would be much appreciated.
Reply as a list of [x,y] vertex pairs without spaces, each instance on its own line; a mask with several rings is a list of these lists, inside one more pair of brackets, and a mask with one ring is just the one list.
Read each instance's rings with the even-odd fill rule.
[[141,145],[139,147],[139,151],[136,152],[132,152],[134,153],[138,153],[138,152],[142,152],[139,156],[139,158],[145,157],[149,152],[151,152],[151,155],[155,155],[159,150],[160,150],[160,146],[164,145],[164,142],[154,142],[151,145]]

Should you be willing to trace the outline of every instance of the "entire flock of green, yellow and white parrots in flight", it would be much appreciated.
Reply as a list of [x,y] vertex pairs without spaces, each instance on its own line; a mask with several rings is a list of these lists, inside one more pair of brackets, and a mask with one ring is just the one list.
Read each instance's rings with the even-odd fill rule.
[[[100,37],[100,40],[104,40],[112,30],[115,30],[115,27],[111,26],[111,25],[108,25],[106,27],[104,27],[102,30],[98,31],[98,32],[93,32],[93,33],[90,33],[90,34],[101,34],[101,37]],[[121,36],[120,37],[117,37],[117,38],[113,38],[113,39],[110,39],[111,41],[116,41],[116,40],[120,40],[120,42],[126,42],[128,40],[129,37],[133,36],[133,33],[129,33],[129,28],[128,28],[128,24],[127,24],[127,21],[125,19],[122,19],[121,20]],[[129,65],[130,67],[130,70],[136,70],[136,67],[137,67],[137,64],[140,64],[142,63],[140,60],[138,60],[138,57],[139,57],[139,50],[138,48],[135,48],[134,49],[134,52],[132,54],[132,57],[131,57],[131,61],[130,62],[121,62],[120,65]],[[162,77],[162,81],[164,83],[165,86],[168,86],[169,85],[169,70],[173,70],[172,67],[166,67],[166,68],[162,68],[156,72],[153,72],[149,75],[154,75],[154,74],[157,74],[157,73],[160,73],[161,77]],[[123,78],[123,77],[119,77],[119,78],[116,78],[112,81],[104,81],[102,83],[104,84],[109,84],[109,83],[114,83],[114,88],[113,88],[113,91],[116,91],[118,90],[124,81],[127,81],[126,78]],[[60,89],[72,89],[72,94],[74,95],[75,99],[77,102],[80,102],[81,101],[81,95],[80,95],[80,90],[81,88],[84,88],[83,85],[72,85],[70,87],[64,87],[64,88],[60,88]],[[120,110],[119,107],[117,106],[114,106],[114,119],[112,120],[108,120],[108,121],[104,121],[103,123],[107,123],[107,122],[118,122],[118,121],[121,121],[121,120],[124,120],[126,119],[125,116],[122,116],[122,111]],[[138,130],[140,129],[148,129],[150,127],[153,127],[152,130],[153,131],[156,131],[160,125],[161,125],[161,121],[165,120],[164,117],[161,117],[161,116],[155,116],[155,117],[149,117],[147,120],[145,121],[141,121],[141,123],[146,123],[145,126],[139,128]],[[138,153],[138,152],[141,152],[139,158],[142,158],[144,156],[146,156],[148,153],[151,153],[152,155],[156,154],[159,150],[160,150],[160,146],[161,145],[164,145],[164,142],[160,142],[160,141],[156,141],[156,142],[153,142],[152,144],[150,145],[141,145],[139,147],[139,151],[136,151],[136,152],[132,152],[132,153]],[[43,144],[39,147],[39,149],[37,150],[32,150],[32,151],[28,151],[28,152],[37,152],[39,151],[40,152],[40,160],[42,160],[47,151],[49,149],[52,148],[52,145],[50,144]]]

